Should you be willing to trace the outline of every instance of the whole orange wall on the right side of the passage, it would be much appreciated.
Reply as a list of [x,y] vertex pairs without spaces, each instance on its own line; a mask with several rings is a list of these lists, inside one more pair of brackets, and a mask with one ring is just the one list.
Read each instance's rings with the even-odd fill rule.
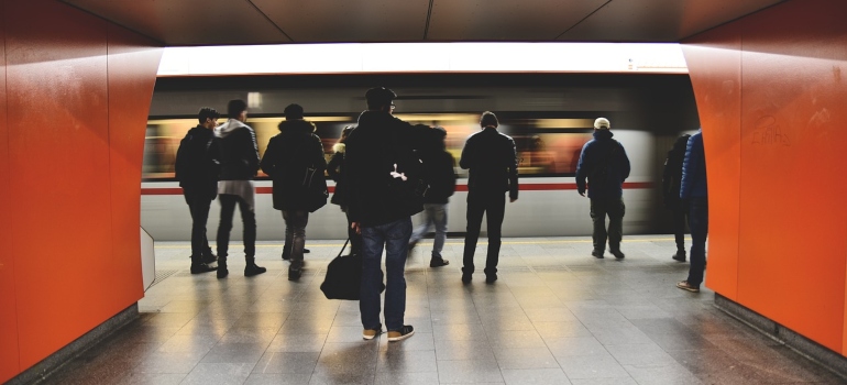
[[685,42],[715,292],[845,354],[847,2],[793,0]]

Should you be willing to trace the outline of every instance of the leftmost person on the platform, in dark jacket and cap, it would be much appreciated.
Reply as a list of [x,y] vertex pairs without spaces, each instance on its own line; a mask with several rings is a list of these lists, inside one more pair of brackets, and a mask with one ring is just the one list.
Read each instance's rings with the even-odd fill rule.
[[209,266],[218,257],[209,248],[206,222],[209,219],[211,202],[218,196],[220,150],[213,132],[218,118],[220,113],[213,108],[201,108],[197,114],[200,123],[188,130],[176,152],[176,179],[179,180],[185,202],[191,213],[191,274],[217,270]]

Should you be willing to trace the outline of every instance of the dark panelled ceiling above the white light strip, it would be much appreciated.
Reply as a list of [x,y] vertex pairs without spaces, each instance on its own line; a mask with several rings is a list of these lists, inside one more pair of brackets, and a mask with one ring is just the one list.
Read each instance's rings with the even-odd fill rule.
[[59,0],[165,46],[679,42],[785,0]]

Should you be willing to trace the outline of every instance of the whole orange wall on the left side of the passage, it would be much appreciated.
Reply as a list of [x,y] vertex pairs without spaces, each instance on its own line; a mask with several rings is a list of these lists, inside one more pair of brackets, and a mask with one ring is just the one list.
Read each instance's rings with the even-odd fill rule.
[[2,382],[143,296],[141,157],[162,50],[55,0],[0,1]]

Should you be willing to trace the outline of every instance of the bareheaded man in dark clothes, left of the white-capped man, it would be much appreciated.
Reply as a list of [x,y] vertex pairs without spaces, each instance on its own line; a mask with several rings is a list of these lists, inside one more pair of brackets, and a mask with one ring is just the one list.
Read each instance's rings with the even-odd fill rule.
[[497,116],[485,111],[480,118],[479,131],[462,148],[459,166],[469,170],[468,176],[468,232],[464,238],[462,282],[468,284],[474,272],[473,256],[480,238],[483,213],[487,220],[488,254],[485,258],[485,282],[497,280],[497,263],[501,252],[501,228],[506,212],[506,198],[518,199],[518,161],[515,141],[497,131]]

